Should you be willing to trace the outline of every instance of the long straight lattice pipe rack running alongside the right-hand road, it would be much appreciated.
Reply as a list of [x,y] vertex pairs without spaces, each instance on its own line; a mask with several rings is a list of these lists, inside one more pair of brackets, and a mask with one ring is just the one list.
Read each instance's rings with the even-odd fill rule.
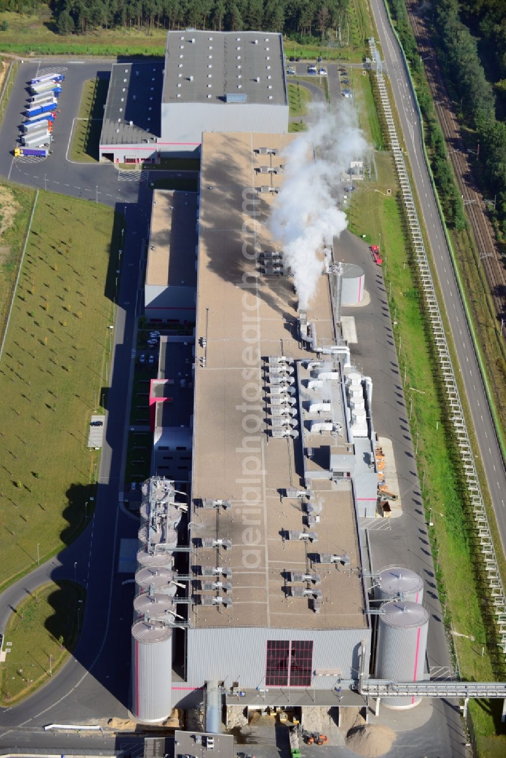
[[[369,50],[371,52],[372,60],[375,61],[378,58],[378,51],[376,49],[376,41],[373,38],[369,39]],[[397,131],[395,129],[394,117],[391,112],[390,99],[385,86],[382,68],[379,66],[376,66],[376,83],[378,85],[379,97],[382,102],[383,114],[385,115],[385,121],[387,124],[388,140],[391,151],[394,155],[395,168],[401,186],[402,199],[410,227],[411,239],[413,240],[416,265],[420,274],[420,282],[422,284],[423,295],[432,326],[435,348],[438,353],[439,365],[445,383],[448,406],[450,408],[450,418],[454,427],[457,445],[460,449],[464,477],[466,479],[467,490],[470,494],[470,501],[483,556],[484,568],[489,583],[492,603],[495,606],[495,620],[498,625],[501,648],[503,653],[506,653],[506,596],[504,595],[504,587],[498,568],[497,558],[495,556],[489,518],[486,514],[485,502],[483,500],[481,487],[479,486],[476,462],[474,460],[469,434],[467,433],[467,426],[462,403],[460,402],[457,381],[455,379],[453,366],[451,365],[451,356],[446,340],[445,328],[443,327],[441,312],[439,311],[438,300],[435,295],[434,282],[429,268],[429,259],[427,258],[422,230],[420,229],[420,221],[416,212],[410,181],[407,176],[404,153],[402,152]]]

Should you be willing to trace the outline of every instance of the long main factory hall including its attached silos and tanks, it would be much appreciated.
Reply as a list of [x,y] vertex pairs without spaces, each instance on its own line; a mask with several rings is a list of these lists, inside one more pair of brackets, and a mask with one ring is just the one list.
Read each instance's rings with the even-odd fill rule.
[[358,302],[363,272],[343,280],[329,241],[302,312],[267,228],[291,139],[203,134],[190,494],[162,471],[142,488],[131,703],[141,721],[203,701],[217,732],[230,705],[357,706],[343,683],[369,676],[373,647],[378,676],[424,677],[423,581],[378,578],[379,599],[393,602],[377,645],[364,584],[359,519],[375,515],[380,477],[372,381],[339,327],[343,286]]

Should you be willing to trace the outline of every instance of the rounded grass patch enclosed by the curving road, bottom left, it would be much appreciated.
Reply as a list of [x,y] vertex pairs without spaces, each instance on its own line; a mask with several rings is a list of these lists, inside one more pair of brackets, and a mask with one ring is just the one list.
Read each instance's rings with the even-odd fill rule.
[[23,700],[63,666],[77,643],[85,597],[77,584],[49,582],[14,609],[5,627],[11,653],[0,666],[0,705]]

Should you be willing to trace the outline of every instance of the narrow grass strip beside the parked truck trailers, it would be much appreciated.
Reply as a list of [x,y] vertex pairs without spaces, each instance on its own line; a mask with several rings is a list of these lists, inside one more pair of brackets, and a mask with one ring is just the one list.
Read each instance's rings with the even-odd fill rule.
[[71,160],[97,163],[108,79],[96,77],[83,84],[79,114],[74,124]]

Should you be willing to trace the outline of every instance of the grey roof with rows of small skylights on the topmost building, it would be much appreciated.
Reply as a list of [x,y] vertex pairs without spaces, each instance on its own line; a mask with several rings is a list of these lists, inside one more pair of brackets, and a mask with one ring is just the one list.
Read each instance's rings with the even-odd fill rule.
[[287,104],[281,34],[169,32],[162,102]]

